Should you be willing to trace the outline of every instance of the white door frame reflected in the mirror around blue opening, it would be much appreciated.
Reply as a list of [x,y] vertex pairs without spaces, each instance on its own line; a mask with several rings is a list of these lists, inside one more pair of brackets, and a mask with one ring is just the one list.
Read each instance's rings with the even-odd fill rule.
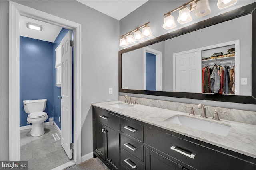
[[149,47],[143,48],[144,90],[146,90],[146,53],[156,55],[156,90],[162,91],[162,52]]

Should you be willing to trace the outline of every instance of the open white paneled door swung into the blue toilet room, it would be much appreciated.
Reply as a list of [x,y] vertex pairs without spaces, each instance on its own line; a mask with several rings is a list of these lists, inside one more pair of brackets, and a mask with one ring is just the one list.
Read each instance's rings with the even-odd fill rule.
[[61,145],[72,158],[72,47],[71,31],[61,40]]

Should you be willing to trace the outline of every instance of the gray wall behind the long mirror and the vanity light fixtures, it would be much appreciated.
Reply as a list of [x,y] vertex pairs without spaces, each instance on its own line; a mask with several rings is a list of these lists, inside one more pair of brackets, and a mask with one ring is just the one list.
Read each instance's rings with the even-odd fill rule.
[[[166,30],[162,27],[164,16],[166,12],[169,10],[172,10],[182,4],[187,2],[187,0],[149,0],[140,8],[134,10],[132,13],[130,13],[128,16],[124,17],[122,20],[120,20],[120,36],[135,29],[136,27],[142,25],[143,23],[146,23],[150,21],[149,26],[151,27],[152,33],[154,37],[158,37],[160,35],[164,35],[166,33],[169,33],[171,31],[174,31],[176,29],[180,29],[182,27],[185,27],[187,25],[190,25],[192,23],[205,20],[207,18],[211,18],[213,16],[222,14],[224,12],[228,12],[230,10],[233,10],[235,8],[239,8],[241,6],[244,6],[246,4],[250,4],[253,2],[256,2],[255,0],[240,0],[235,4],[234,6],[231,6],[230,8],[226,8],[224,10],[219,10],[217,7],[217,0],[210,0],[210,7],[212,9],[212,13],[208,16],[204,16],[202,18],[196,18],[195,15],[192,12],[192,18],[193,21],[180,25],[176,22],[177,27],[176,29]],[[174,12],[173,16],[177,18],[178,12]],[[152,38],[154,38],[152,37]],[[148,39],[146,39],[148,40]],[[130,46],[128,46],[130,47]],[[127,47],[126,47],[127,48]],[[124,48],[120,48],[124,49]],[[167,63],[168,61],[165,61]],[[166,67],[165,67],[166,69]],[[123,93],[119,93],[120,95],[124,95]],[[217,106],[217,107],[226,107],[226,108],[234,108],[234,109],[244,109],[249,111],[256,111],[255,105],[250,104],[237,104],[237,103],[230,103],[230,102],[212,102],[212,101],[206,101],[206,100],[193,100],[193,99],[184,99],[184,98],[171,98],[171,97],[163,97],[163,96],[149,96],[149,95],[139,95],[139,94],[130,94],[130,96],[136,96],[136,97],[142,97],[142,98],[155,98],[158,100],[169,100],[174,102],[182,102],[182,103],[192,103],[192,104],[198,104],[203,103],[206,106]]]

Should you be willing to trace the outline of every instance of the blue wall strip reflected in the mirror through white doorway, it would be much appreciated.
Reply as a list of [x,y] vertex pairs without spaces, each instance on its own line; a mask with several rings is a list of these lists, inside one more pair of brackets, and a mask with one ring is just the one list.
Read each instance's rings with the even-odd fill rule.
[[146,53],[146,90],[156,90],[156,55]]

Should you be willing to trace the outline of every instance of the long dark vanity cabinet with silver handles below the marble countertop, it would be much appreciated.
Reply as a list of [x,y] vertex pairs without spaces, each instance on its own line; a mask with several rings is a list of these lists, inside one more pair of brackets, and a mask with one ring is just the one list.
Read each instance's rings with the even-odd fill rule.
[[121,170],[256,170],[256,159],[93,107],[94,157]]

